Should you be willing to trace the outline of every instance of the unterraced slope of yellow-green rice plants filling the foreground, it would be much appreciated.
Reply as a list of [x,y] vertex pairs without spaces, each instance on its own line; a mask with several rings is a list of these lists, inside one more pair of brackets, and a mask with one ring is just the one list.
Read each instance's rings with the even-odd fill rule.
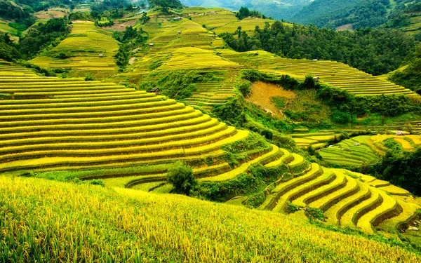
[[0,189],[1,261],[421,261],[399,242],[183,196],[10,177]]

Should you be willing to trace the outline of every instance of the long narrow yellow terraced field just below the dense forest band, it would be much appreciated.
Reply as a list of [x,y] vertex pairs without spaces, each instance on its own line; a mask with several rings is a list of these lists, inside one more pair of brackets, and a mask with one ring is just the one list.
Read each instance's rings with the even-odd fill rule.
[[379,79],[340,62],[277,58],[275,55],[262,50],[258,51],[258,55],[253,55],[255,51],[246,53],[236,53],[232,50],[218,51],[222,53],[224,58],[242,65],[260,67],[260,70],[269,74],[289,74],[298,79],[304,79],[309,74],[317,76],[321,83],[342,88],[356,96],[385,94],[419,97],[419,95],[408,88]]

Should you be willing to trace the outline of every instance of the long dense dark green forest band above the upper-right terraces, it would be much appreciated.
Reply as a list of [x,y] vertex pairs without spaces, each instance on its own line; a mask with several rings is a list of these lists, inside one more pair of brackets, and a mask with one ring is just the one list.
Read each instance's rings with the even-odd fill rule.
[[263,49],[286,58],[335,60],[373,75],[400,67],[415,46],[413,37],[386,29],[335,32],[315,26],[290,27],[276,21],[263,29],[256,27],[254,33],[248,36],[239,27],[236,32],[221,36],[239,52]]

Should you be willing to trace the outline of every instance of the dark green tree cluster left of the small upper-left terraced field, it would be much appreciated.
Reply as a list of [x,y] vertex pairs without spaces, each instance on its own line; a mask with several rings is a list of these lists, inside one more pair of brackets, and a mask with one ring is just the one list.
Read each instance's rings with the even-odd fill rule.
[[40,50],[50,45],[57,46],[70,32],[68,24],[69,21],[66,18],[53,18],[45,24],[39,23],[39,25],[29,29],[18,43],[23,58],[31,59]]

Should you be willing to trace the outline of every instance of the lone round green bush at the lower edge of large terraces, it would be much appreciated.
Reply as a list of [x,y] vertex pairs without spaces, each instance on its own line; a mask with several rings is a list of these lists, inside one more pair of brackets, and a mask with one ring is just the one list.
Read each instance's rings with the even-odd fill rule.
[[185,163],[177,161],[168,169],[168,182],[173,184],[173,192],[189,196],[190,191],[197,185],[197,180],[193,176],[193,170]]

